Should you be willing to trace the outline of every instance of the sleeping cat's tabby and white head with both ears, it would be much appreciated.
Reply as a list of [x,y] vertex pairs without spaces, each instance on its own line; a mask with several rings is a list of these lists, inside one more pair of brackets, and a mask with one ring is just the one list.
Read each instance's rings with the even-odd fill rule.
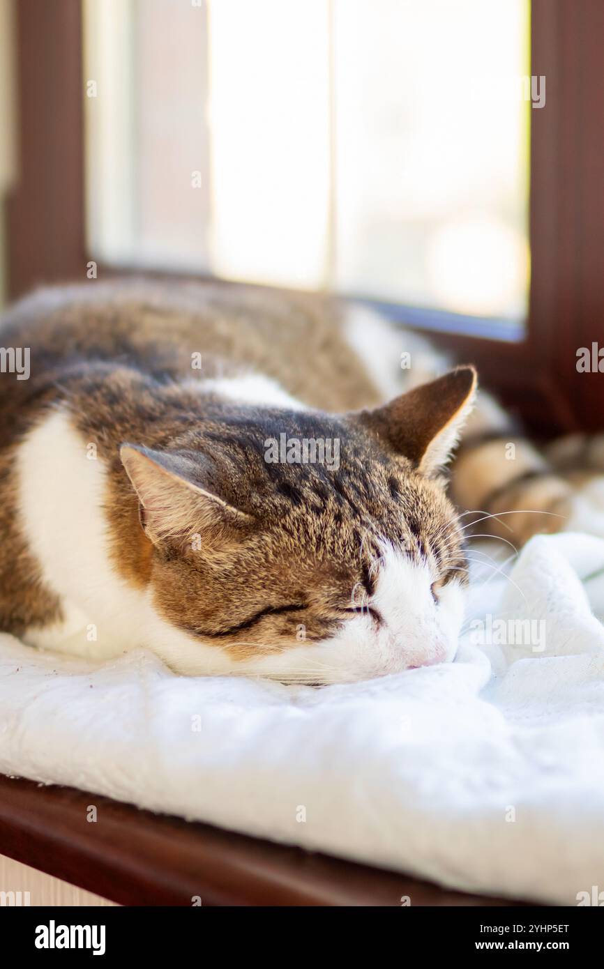
[[155,648],[305,683],[452,660],[467,573],[440,475],[475,385],[462,367],[341,418],[216,404],[167,450],[124,444]]

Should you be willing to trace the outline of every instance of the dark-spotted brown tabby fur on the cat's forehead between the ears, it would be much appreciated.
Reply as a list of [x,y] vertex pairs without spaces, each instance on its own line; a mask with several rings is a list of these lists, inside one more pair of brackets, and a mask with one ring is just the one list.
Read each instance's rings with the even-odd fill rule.
[[346,420],[233,408],[189,446],[211,457],[217,493],[288,553],[296,543],[345,557],[383,539],[413,547],[453,517],[441,485]]

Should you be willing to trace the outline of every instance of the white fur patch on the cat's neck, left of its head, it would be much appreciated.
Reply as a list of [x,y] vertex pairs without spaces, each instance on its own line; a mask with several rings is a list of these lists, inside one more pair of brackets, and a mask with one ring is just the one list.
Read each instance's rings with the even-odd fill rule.
[[65,411],[54,411],[18,451],[21,527],[64,613],[60,625],[31,629],[25,641],[104,658],[142,643],[154,615],[146,595],[111,567],[106,468],[88,443]]

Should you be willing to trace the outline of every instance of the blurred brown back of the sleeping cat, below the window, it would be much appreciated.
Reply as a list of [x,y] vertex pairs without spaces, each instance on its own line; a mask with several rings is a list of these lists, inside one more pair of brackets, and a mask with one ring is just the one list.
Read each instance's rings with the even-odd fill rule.
[[[36,388],[102,361],[176,380],[192,368],[210,379],[251,371],[326,411],[380,398],[337,302],[261,287],[91,280],[45,289],[5,314],[0,343],[27,349]],[[3,374],[0,409],[15,393],[28,396]]]

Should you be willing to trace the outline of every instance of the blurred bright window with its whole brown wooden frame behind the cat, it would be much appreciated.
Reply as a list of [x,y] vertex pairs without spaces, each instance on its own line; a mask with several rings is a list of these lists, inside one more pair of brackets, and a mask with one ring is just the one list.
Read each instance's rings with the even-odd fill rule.
[[601,426],[603,45],[601,0],[0,0],[0,301],[333,292]]

